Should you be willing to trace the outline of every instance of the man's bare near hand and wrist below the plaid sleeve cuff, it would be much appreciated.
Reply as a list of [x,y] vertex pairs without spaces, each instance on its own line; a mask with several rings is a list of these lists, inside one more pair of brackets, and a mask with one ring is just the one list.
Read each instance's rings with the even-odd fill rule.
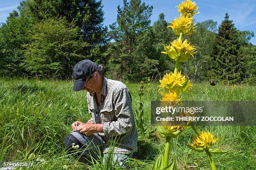
[[86,123],[86,124],[77,126],[77,130],[82,134],[90,136],[93,133],[103,132],[103,125],[102,124]]

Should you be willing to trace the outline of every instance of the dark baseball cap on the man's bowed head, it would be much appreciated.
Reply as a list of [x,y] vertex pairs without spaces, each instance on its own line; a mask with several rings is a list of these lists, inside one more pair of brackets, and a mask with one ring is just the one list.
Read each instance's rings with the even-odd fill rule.
[[87,76],[97,71],[98,66],[91,60],[79,61],[73,69],[74,87],[73,91],[80,91],[85,86]]

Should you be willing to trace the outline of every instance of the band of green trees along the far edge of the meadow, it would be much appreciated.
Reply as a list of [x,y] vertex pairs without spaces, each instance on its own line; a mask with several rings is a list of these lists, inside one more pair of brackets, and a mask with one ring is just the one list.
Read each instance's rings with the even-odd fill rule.
[[[105,65],[113,79],[159,80],[174,68],[162,54],[176,38],[164,13],[151,25],[153,6],[123,0],[116,22],[103,25],[102,1],[24,0],[0,25],[0,74],[5,76],[70,77],[84,59]],[[195,21],[194,21],[195,22]],[[226,13],[220,23],[197,22],[187,38],[197,53],[181,70],[193,82],[208,79],[256,82],[254,33],[235,28]]]

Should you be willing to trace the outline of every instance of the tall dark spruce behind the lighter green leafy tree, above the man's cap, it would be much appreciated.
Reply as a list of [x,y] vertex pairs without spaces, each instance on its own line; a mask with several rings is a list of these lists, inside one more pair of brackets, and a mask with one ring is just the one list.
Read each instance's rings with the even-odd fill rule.
[[83,55],[90,60],[102,62],[102,52],[108,42],[104,27],[102,1],[99,0],[26,0],[23,11],[28,10],[32,18],[39,22],[49,18],[66,18],[79,28],[83,41],[89,43],[84,47]]

